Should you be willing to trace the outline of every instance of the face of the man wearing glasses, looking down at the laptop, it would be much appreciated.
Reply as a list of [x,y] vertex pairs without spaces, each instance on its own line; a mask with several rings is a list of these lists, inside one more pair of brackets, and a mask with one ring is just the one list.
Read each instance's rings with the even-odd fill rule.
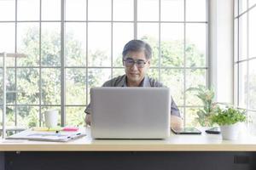
[[[150,60],[146,59],[145,53],[143,51],[131,51],[126,54],[125,60],[126,61],[124,61],[124,65],[127,81],[137,84],[141,83],[147,74],[148,68],[150,66]],[[136,63],[133,63],[134,61]]]

